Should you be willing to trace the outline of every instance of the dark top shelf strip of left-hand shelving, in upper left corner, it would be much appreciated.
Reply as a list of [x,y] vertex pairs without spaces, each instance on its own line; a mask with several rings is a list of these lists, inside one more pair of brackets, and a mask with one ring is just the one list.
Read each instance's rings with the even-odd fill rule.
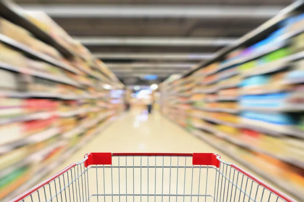
[[0,1],[0,15],[7,18],[11,22],[22,26],[33,35],[35,35],[40,40],[44,41],[47,44],[55,47],[65,58],[71,58],[74,54],[69,51],[66,47],[58,43],[54,38],[52,38],[48,33],[35,26],[32,22],[24,17],[24,12],[18,9],[17,5],[13,4],[10,1]]

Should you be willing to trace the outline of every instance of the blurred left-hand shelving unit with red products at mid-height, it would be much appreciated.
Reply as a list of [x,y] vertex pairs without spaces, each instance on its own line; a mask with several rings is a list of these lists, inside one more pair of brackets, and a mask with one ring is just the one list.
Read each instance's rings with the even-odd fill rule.
[[0,200],[7,201],[118,116],[124,86],[50,19],[9,1],[0,10]]

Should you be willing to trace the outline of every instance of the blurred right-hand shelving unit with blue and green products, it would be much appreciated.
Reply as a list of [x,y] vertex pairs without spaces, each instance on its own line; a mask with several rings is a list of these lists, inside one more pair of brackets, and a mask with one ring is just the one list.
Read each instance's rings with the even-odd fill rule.
[[161,85],[165,116],[299,201],[304,200],[303,11],[304,3],[295,2],[211,60]]

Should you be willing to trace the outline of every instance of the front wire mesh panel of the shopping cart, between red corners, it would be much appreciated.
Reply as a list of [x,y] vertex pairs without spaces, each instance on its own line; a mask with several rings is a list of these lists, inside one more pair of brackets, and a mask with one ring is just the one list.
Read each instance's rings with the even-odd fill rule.
[[[191,157],[115,157],[111,166],[92,166],[96,176],[93,201],[191,201],[212,198],[213,167],[192,165]],[[211,181],[211,178],[209,178]],[[208,201],[208,200],[206,200]],[[211,200],[210,200],[211,201]],[[213,200],[212,200],[213,201]]]

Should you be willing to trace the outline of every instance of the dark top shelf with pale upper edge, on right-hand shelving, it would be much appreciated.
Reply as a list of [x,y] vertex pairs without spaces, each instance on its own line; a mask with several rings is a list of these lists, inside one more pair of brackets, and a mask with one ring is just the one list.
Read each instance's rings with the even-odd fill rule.
[[197,70],[199,70],[203,67],[206,67],[207,65],[210,65],[214,62],[219,61],[226,54],[234,51],[235,49],[237,49],[245,44],[250,44],[250,43],[256,42],[258,39],[261,38],[261,36],[267,36],[269,33],[271,33],[272,31],[274,31],[276,29],[276,26],[279,22],[286,19],[290,13],[292,13],[293,11],[295,11],[297,9],[302,8],[303,6],[304,6],[303,0],[296,1],[295,3],[291,4],[290,6],[286,7],[282,11],[280,11],[280,13],[278,15],[276,15],[272,19],[268,20],[267,22],[263,23],[262,25],[260,25],[256,29],[252,30],[251,32],[245,34],[243,37],[239,38],[231,45],[220,49],[211,60],[209,60],[207,62],[205,62],[205,61],[200,62],[194,68],[191,68],[191,70],[185,72],[182,75],[182,77],[187,77],[187,76],[191,75],[192,73],[196,72]]

